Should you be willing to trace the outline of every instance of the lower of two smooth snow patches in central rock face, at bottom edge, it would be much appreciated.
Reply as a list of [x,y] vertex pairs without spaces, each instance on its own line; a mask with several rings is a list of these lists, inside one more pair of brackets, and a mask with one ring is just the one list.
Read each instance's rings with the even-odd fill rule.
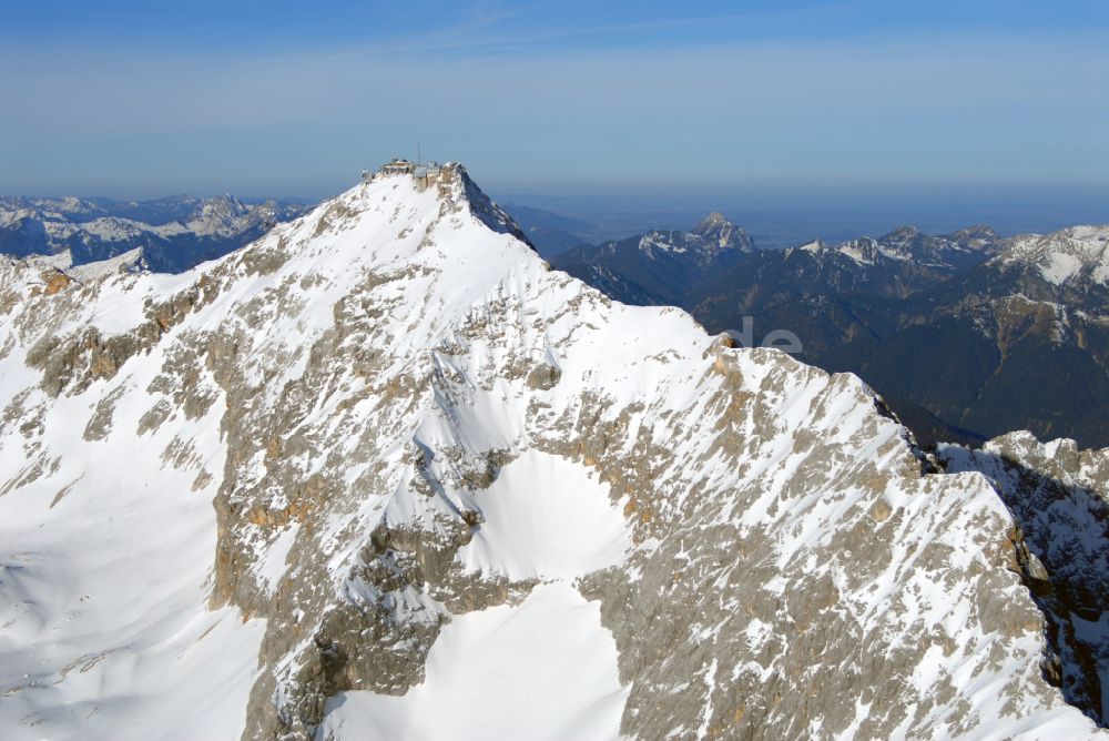
[[517,607],[456,617],[403,697],[340,692],[318,739],[602,741],[620,737],[628,688],[597,602],[541,585]]

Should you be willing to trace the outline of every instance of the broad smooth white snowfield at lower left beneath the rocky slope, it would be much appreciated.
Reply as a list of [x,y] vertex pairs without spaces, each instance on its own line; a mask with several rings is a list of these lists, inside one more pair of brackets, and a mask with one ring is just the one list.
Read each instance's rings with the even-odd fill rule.
[[[54,474],[0,496],[0,737],[237,739],[264,622],[206,609],[213,490],[163,466],[171,430],[135,438],[143,408],[82,445],[85,404],[48,415]],[[206,423],[197,455],[218,464]],[[29,465],[0,446],[3,478]]]

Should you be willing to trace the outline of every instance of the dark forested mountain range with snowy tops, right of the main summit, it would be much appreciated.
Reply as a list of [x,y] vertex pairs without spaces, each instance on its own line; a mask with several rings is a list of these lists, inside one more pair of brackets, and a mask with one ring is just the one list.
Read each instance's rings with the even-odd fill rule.
[[744,317],[759,336],[788,329],[802,359],[861,375],[926,444],[1026,428],[1109,445],[1109,227],[1009,238],[904,227],[760,251],[703,240],[705,223],[552,264],[625,303],[682,306],[710,332]]

